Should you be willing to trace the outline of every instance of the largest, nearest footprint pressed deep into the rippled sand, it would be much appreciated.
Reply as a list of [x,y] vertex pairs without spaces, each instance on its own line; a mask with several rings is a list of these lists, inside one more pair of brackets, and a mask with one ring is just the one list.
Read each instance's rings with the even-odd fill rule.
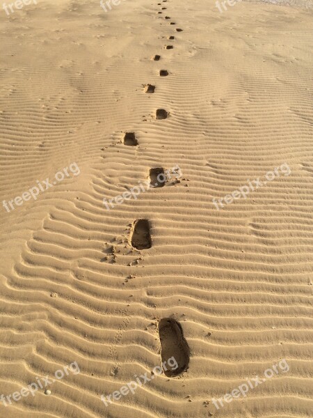
[[[182,326],[172,318],[162,318],[159,321],[159,338],[161,343],[161,361],[164,374],[175,377],[186,371],[189,364],[190,350]],[[168,359],[174,357],[175,364],[169,368]],[[171,363],[173,363],[171,361]]]

